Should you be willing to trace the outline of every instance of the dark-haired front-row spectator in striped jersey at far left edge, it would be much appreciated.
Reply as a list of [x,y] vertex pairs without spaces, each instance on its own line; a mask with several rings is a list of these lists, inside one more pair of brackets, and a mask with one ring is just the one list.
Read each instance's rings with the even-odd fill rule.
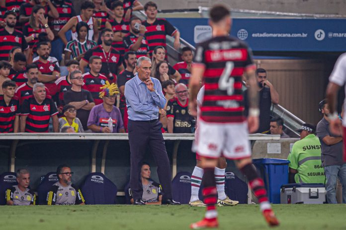
[[14,96],[15,82],[6,80],[2,83],[3,95],[0,95],[0,133],[18,133],[19,101]]

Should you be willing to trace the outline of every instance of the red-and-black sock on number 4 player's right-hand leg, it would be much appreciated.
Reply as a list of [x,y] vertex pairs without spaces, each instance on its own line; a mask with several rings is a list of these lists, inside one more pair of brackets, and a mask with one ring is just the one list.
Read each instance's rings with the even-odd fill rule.
[[253,164],[247,164],[240,169],[249,179],[249,185],[254,191],[255,196],[259,199],[259,207],[261,211],[271,210],[270,203],[264,188],[264,182],[259,177]]

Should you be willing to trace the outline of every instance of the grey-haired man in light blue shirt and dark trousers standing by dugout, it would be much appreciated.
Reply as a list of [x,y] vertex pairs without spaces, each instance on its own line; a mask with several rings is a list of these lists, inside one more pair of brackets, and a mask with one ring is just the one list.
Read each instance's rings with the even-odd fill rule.
[[125,97],[128,111],[128,131],[131,152],[130,187],[135,205],[145,205],[141,200],[143,187],[140,169],[143,155],[149,145],[158,166],[158,175],[163,187],[162,204],[178,205],[172,199],[171,167],[164,137],[159,122],[159,113],[166,114],[166,99],[160,81],[151,74],[151,61],[148,57],[137,60],[137,75],[125,84]]

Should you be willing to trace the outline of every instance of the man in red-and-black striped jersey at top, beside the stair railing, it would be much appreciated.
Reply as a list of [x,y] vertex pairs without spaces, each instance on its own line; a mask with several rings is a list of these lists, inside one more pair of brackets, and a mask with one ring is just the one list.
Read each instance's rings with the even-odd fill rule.
[[144,5],[144,11],[147,14],[147,20],[143,25],[147,28],[145,37],[149,43],[150,55],[156,46],[163,46],[166,49],[166,35],[174,37],[174,48],[180,48],[180,33],[164,18],[156,18],[158,6],[153,1],[148,1]]

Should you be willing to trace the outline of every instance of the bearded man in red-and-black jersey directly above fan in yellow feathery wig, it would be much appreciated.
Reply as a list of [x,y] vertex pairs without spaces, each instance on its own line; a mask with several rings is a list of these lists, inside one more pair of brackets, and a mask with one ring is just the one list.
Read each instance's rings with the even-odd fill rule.
[[86,54],[80,62],[81,71],[84,73],[84,69],[89,63],[91,56],[98,56],[102,61],[102,67],[99,73],[106,76],[110,83],[116,82],[117,74],[121,73],[124,67],[120,53],[111,47],[114,37],[113,31],[106,28],[102,30],[100,36],[102,44],[86,51]]

